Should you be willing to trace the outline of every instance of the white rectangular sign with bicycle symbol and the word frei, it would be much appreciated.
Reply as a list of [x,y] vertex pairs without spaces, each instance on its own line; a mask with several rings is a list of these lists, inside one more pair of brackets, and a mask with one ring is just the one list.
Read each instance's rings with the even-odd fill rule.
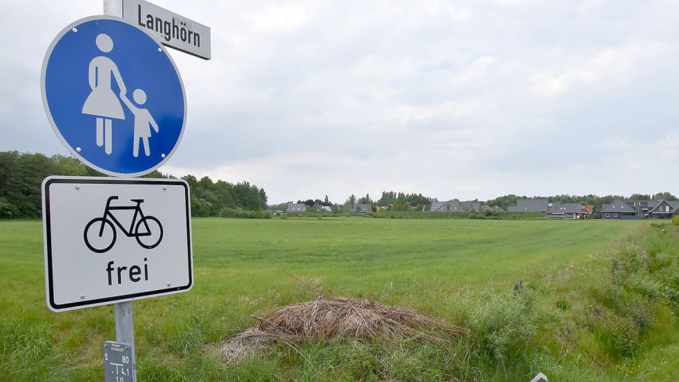
[[42,191],[47,305],[53,311],[193,286],[184,180],[50,176]]

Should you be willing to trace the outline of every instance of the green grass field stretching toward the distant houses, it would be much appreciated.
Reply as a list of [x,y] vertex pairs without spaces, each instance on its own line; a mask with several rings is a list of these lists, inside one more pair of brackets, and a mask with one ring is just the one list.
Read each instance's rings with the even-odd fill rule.
[[[134,303],[140,381],[528,381],[545,368],[571,381],[673,378],[679,367],[669,354],[679,346],[669,309],[656,312],[642,351],[627,358],[597,356],[596,328],[571,338],[575,345],[558,334],[589,312],[583,285],[602,277],[611,248],[648,230],[644,221],[194,219],[193,289]],[[214,330],[244,329],[254,324],[251,314],[313,298],[284,271],[330,294],[405,305],[455,325],[481,325],[483,307],[503,304],[525,280],[531,309],[546,313],[531,321],[535,330],[522,348],[508,341],[513,348],[495,358],[477,343],[479,352],[461,356],[455,350],[472,345],[324,340],[300,344],[310,362],[278,345],[225,365],[209,345],[229,332]],[[0,221],[0,379],[102,380],[102,343],[115,339],[113,307],[53,313],[44,288],[41,222]],[[557,309],[557,299],[568,308]],[[521,365],[513,367],[517,356]],[[662,362],[671,371],[660,370]]]

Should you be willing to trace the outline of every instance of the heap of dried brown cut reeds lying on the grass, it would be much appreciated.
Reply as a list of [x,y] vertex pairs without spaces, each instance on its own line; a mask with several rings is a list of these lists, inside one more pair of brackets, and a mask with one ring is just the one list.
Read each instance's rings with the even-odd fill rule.
[[264,318],[254,327],[229,336],[222,350],[230,361],[238,361],[267,341],[280,341],[294,347],[294,341],[314,338],[374,338],[399,340],[421,338],[442,341],[468,331],[405,307],[374,301],[319,294],[306,303],[287,305]]

